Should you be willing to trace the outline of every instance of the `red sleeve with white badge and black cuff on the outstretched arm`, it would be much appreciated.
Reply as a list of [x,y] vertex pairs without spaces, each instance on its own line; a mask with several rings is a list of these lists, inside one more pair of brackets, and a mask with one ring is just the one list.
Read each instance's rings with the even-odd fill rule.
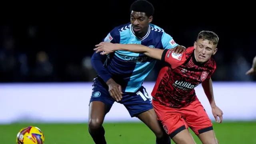
[[182,54],[174,54],[172,49],[165,49],[162,54],[162,61],[168,62],[172,68],[177,68],[186,61],[186,56]]

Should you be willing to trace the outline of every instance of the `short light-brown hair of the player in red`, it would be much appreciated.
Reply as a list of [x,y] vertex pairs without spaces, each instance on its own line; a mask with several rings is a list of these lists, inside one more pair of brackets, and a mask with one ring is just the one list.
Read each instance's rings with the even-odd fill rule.
[[210,42],[212,42],[212,44],[218,44],[219,42],[219,37],[217,34],[215,34],[212,31],[201,31],[199,32],[197,39],[203,39],[203,40],[209,40]]

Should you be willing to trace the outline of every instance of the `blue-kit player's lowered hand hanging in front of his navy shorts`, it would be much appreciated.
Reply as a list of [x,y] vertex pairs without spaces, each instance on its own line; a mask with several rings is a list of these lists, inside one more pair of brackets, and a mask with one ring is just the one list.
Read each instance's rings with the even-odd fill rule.
[[108,92],[114,100],[119,102],[122,99],[122,87],[110,78],[106,84],[108,85]]

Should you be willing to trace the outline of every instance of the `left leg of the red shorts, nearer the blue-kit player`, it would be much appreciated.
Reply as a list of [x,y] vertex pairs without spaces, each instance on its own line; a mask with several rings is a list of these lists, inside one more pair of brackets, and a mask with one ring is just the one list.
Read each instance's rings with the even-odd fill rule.
[[160,120],[170,138],[173,139],[177,134],[188,128],[185,120],[182,118],[182,114],[177,109],[161,105],[154,100],[152,104],[158,120]]

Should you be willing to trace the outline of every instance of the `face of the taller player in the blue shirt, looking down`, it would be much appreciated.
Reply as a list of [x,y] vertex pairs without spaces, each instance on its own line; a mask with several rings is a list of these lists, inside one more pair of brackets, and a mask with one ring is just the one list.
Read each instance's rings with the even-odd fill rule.
[[132,28],[135,33],[142,34],[148,32],[149,23],[152,22],[153,17],[149,18],[146,16],[145,12],[131,12],[130,20],[132,23]]

